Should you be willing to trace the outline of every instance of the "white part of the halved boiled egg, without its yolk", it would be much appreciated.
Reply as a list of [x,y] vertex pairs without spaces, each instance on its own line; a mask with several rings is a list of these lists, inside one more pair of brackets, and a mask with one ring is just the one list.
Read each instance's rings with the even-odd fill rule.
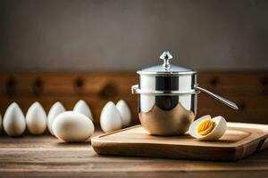
[[[197,133],[197,126],[205,119],[212,119],[214,122],[214,128],[211,132],[205,135],[201,135]],[[223,134],[225,134],[227,129],[227,123],[224,117],[218,116],[211,118],[211,116],[206,115],[204,117],[200,117],[197,120],[195,120],[189,127],[189,134],[192,137],[197,138],[201,141],[215,141],[222,137]]]

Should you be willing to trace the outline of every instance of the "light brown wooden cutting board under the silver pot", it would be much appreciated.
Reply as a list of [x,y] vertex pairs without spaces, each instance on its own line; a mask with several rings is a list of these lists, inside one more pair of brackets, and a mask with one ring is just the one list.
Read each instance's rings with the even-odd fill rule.
[[91,139],[100,155],[183,158],[230,161],[246,158],[268,147],[268,125],[228,123],[219,141],[197,141],[188,134],[153,136],[141,127],[132,126]]

